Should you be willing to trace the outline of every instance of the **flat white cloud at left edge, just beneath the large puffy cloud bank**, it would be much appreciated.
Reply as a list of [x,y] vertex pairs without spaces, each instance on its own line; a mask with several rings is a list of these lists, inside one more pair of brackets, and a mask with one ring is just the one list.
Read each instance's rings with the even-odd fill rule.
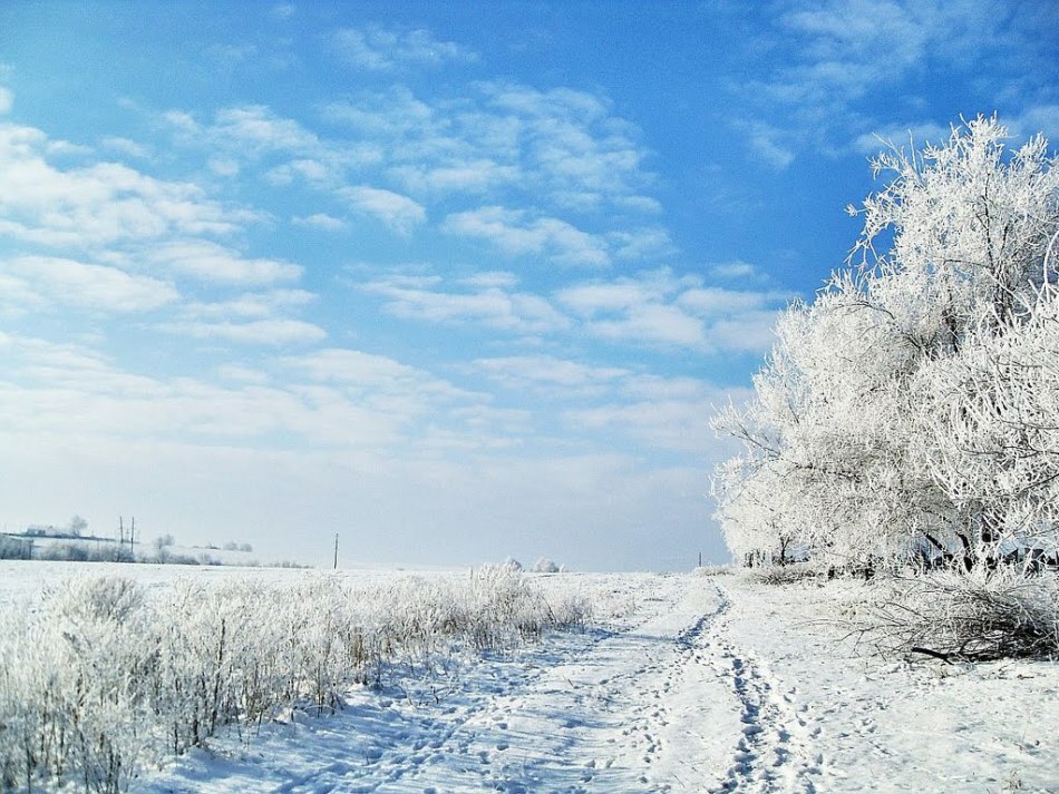
[[0,262],[7,284],[0,302],[31,301],[38,305],[66,305],[105,312],[146,312],[178,297],[172,284],[133,276],[116,267],[50,256],[20,256]]

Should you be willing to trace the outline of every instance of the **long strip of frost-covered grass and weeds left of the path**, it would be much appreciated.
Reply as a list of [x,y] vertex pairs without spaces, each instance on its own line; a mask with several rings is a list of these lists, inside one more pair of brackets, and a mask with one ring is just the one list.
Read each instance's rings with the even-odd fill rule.
[[582,625],[577,597],[551,602],[518,571],[407,578],[371,588],[184,580],[148,590],[75,578],[0,615],[0,787],[128,787],[144,764],[323,713],[392,665],[420,669]]

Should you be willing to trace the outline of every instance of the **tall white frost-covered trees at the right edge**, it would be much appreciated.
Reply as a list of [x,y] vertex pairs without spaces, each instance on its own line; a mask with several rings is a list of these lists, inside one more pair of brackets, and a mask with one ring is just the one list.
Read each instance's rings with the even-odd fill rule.
[[780,318],[751,403],[715,418],[745,448],[713,481],[738,556],[971,568],[1056,535],[1059,171],[1040,136],[1005,137],[980,117],[874,161],[892,178],[853,210],[848,266]]

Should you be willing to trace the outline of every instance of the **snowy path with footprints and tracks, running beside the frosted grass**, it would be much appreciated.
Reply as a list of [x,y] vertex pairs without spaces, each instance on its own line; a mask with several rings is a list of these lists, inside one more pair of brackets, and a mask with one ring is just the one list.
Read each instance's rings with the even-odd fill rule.
[[641,596],[612,630],[484,660],[438,703],[358,693],[333,718],[193,754],[143,790],[813,791],[795,785],[796,715],[720,634],[722,591],[705,577],[661,577]]

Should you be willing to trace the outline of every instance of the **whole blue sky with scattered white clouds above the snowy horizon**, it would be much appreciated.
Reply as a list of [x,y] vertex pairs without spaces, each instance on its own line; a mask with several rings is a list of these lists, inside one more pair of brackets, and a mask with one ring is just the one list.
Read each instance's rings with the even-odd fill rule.
[[1052,0],[0,3],[0,527],[728,558],[715,406]]

